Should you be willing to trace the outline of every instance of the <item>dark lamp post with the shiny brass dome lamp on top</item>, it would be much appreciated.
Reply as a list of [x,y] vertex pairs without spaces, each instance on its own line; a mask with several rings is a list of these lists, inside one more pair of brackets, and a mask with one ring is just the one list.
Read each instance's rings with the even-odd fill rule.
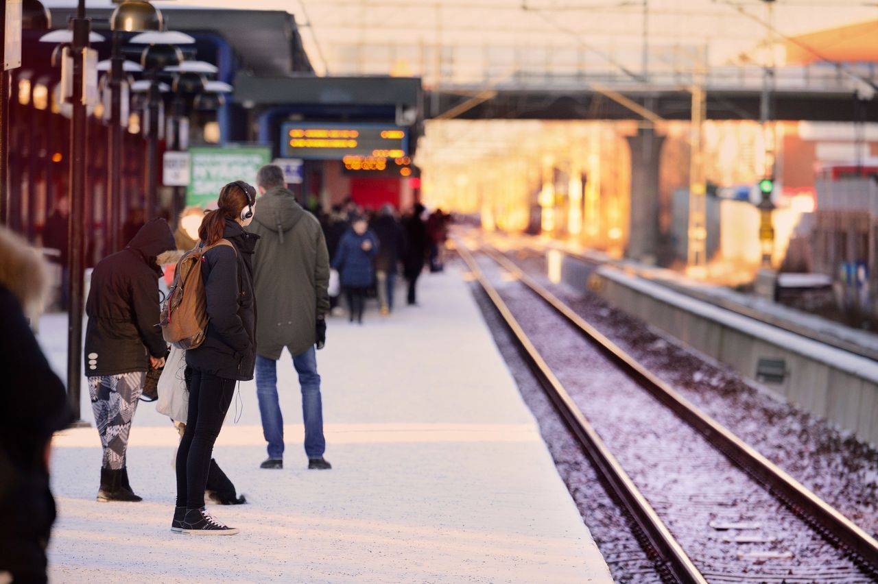
[[[108,185],[106,192],[105,215],[107,223],[107,247],[112,253],[119,249],[119,207],[122,199],[122,132],[128,125],[127,116],[122,115],[122,104],[128,101],[128,83],[125,72],[135,70],[126,67],[122,55],[122,32],[161,31],[164,27],[162,12],[145,0],[126,0],[116,7],[110,17],[112,31],[112,56],[110,59],[110,144],[107,148]],[[132,63],[132,65],[136,65]],[[136,69],[142,70],[140,66]]]

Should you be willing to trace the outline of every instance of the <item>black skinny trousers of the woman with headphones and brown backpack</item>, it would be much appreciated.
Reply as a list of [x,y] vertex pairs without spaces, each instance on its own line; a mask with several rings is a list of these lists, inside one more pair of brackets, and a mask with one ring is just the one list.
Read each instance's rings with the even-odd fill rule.
[[176,451],[176,505],[187,509],[205,506],[207,472],[213,443],[232,403],[237,381],[192,370],[189,416]]

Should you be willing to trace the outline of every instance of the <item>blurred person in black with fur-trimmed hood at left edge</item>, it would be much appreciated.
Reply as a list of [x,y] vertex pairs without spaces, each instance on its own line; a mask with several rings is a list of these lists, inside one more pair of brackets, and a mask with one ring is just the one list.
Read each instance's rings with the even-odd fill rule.
[[52,434],[72,421],[67,394],[28,325],[47,293],[40,253],[0,227],[0,581],[47,581],[55,518]]

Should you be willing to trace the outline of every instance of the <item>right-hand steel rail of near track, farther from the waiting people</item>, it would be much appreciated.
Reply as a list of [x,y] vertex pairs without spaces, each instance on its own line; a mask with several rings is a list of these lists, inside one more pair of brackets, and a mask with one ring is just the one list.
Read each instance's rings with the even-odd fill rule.
[[874,575],[878,575],[878,541],[875,538],[839,513],[829,503],[824,502],[823,499],[805,488],[802,483],[781,470],[771,460],[766,459],[751,445],[746,444],[744,440],[738,438],[722,424],[699,410],[665,381],[659,379],[656,374],[625,353],[622,348],[615,345],[594,326],[588,324],[583,317],[580,317],[557,296],[525,274],[520,267],[515,265],[515,262],[496,252],[493,248],[483,246],[483,252],[508,272],[514,274],[543,302],[549,304],[572,324],[575,324],[582,334],[596,342],[614,360],[622,363],[623,367],[632,374],[632,377],[640,381],[641,386],[650,391],[651,395],[659,402],[664,403],[680,419],[699,431],[709,440],[711,445],[714,445],[717,450],[723,452],[727,458],[759,481],[772,495],[781,499],[796,515],[802,516],[824,536],[834,539],[845,547],[846,551],[852,554],[855,562],[868,566]]

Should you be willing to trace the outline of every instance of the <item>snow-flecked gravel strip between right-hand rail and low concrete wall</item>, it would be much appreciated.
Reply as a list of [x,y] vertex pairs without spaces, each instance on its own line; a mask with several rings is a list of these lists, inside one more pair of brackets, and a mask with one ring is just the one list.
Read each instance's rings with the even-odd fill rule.
[[878,451],[643,321],[612,310],[599,296],[552,284],[542,275],[542,257],[509,258],[687,400],[878,537]]

